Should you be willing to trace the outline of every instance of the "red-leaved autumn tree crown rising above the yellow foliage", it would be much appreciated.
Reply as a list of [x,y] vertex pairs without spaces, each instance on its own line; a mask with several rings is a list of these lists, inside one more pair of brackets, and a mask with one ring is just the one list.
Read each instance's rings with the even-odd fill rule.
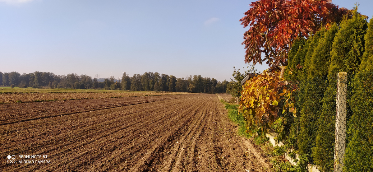
[[320,26],[339,21],[349,12],[338,9],[331,0],[258,0],[250,6],[239,20],[244,27],[250,27],[242,43],[245,63],[255,65],[267,60],[270,67],[288,64],[288,51],[295,38],[308,37]]

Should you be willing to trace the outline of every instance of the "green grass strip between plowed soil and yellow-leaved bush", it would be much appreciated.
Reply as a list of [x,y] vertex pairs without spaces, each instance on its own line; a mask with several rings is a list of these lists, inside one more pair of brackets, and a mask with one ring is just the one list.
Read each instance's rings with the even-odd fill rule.
[[223,99],[220,99],[220,102],[222,102],[225,106],[225,109],[228,110],[228,118],[231,119],[232,122],[236,123],[238,125],[238,135],[242,135],[245,137],[250,137],[245,131],[245,118],[242,116],[241,113],[238,113],[238,104],[232,104],[228,103]]

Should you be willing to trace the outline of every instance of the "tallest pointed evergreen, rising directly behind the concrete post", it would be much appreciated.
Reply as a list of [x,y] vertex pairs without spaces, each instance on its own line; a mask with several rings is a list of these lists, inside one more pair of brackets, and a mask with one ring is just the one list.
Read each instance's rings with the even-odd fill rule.
[[[322,98],[322,113],[318,118],[318,129],[316,136],[316,146],[313,148],[312,156],[316,165],[322,171],[333,171],[334,140],[335,137],[335,109],[336,109],[336,79],[338,72],[348,74],[357,72],[360,65],[360,58],[364,52],[364,35],[367,29],[367,22],[355,10],[351,19],[344,19],[340,24],[340,29],[335,35],[330,51],[330,67],[327,71],[329,75],[329,86]],[[317,49],[315,49],[315,53]],[[320,53],[323,53],[320,51]],[[328,62],[328,56],[320,62]],[[326,75],[326,66],[322,67],[319,75]],[[348,109],[349,110],[349,107]]]

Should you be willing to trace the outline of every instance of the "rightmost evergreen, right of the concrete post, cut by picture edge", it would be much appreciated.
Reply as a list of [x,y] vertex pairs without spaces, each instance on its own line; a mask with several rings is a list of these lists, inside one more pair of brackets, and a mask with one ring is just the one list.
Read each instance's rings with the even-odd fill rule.
[[361,58],[360,71],[349,84],[353,93],[348,98],[352,116],[348,120],[345,153],[347,172],[373,171],[373,19],[368,24],[365,51]]

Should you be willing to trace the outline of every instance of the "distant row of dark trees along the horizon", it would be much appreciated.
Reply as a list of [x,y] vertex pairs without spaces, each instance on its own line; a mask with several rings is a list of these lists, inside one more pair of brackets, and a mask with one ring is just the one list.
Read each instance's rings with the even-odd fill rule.
[[88,75],[67,74],[54,75],[51,72],[0,72],[0,84],[19,88],[74,88],[132,91],[170,91],[191,93],[230,93],[232,82],[217,81],[214,78],[202,78],[201,75],[188,78],[176,78],[173,75],[145,72],[129,77],[123,72],[122,79],[115,81],[114,76],[99,82],[99,75],[92,78]]

